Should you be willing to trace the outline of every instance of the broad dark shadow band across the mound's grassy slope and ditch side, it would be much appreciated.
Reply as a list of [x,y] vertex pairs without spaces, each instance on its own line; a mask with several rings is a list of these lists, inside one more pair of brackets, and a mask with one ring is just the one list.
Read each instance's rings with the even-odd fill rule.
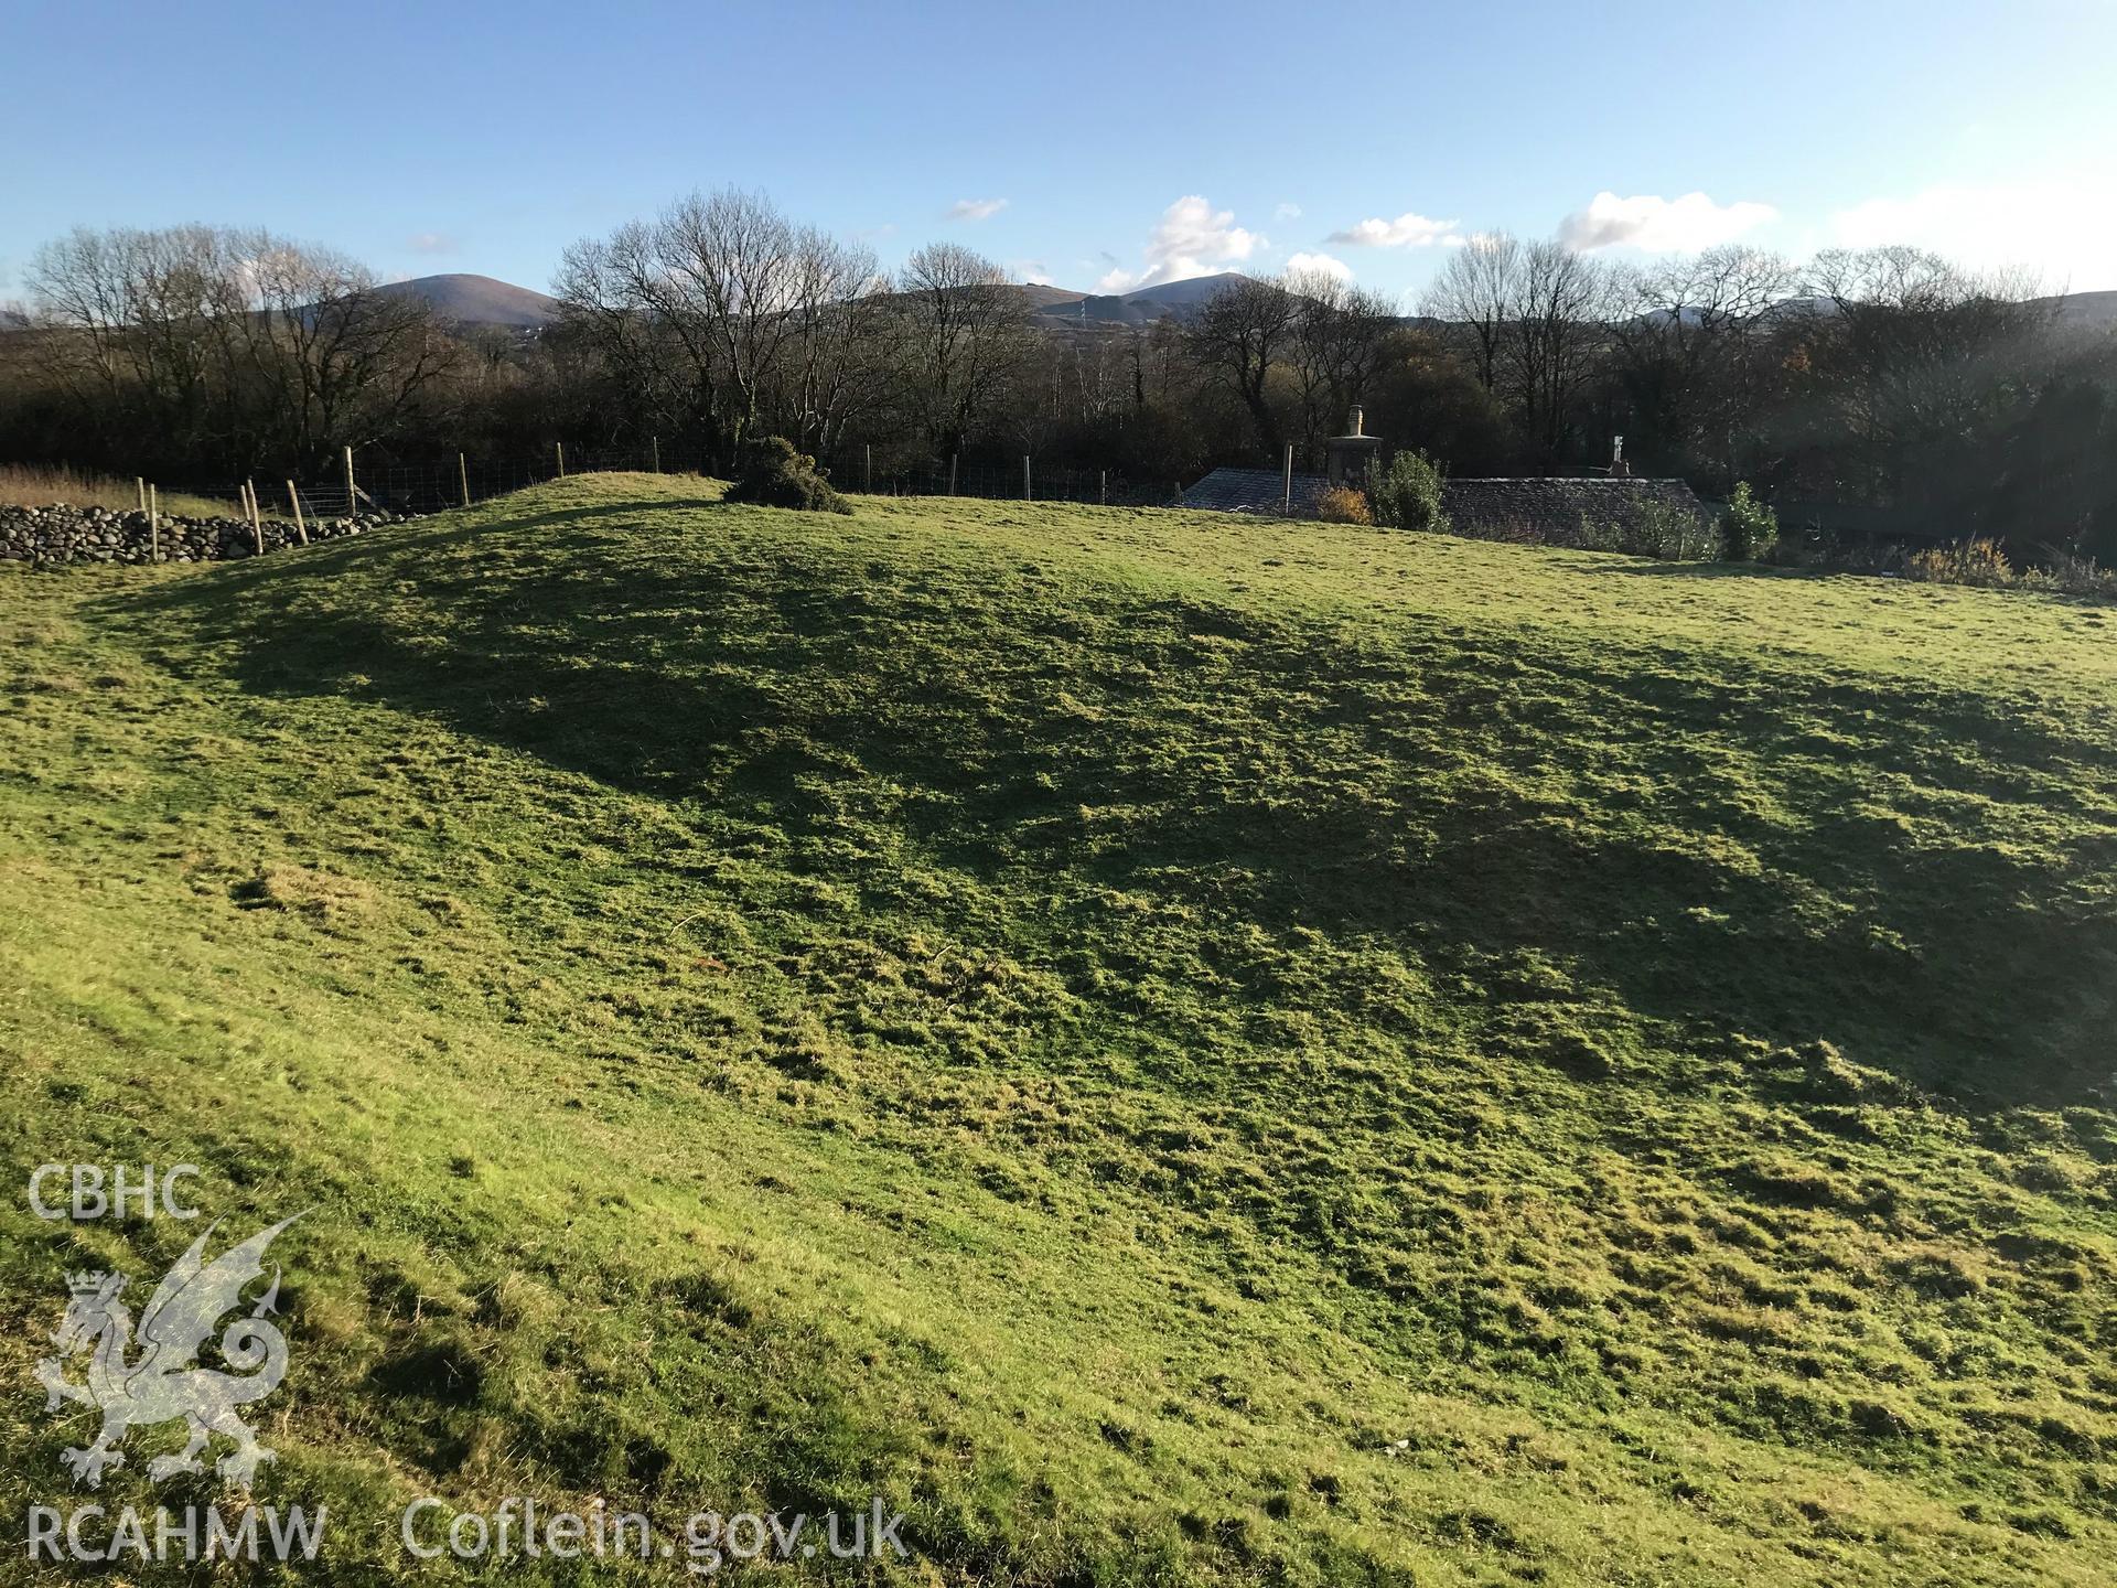
[[[246,690],[358,678],[811,855],[847,824],[893,828],[1050,898],[1075,955],[1196,968],[1257,1010],[1287,995],[1272,972],[1211,934],[1156,959],[1105,889],[1181,902],[1219,940],[1313,927],[1480,982],[1541,955],[1677,1046],[1827,1037],[1967,1103],[2106,1071],[2117,942],[2087,879],[2117,868],[2117,836],[2075,824],[2039,858],[2005,819],[2073,809],[2089,781],[2106,798],[2109,743],[1937,686],[1727,682],[1706,656],[1444,625],[1378,650],[1137,589],[1054,597],[1008,559],[876,561],[792,517],[614,534],[667,506],[341,542],[110,606]],[[1876,790],[1948,813],[1952,841],[1912,843]]]

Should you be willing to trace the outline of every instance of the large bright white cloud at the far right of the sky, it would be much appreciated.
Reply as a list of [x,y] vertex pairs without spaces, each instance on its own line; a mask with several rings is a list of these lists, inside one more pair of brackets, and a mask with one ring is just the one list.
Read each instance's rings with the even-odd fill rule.
[[1827,239],[1840,248],[1912,243],[1973,269],[2026,267],[2045,288],[2117,286],[2117,210],[2102,195],[2117,169],[2007,186],[1946,184],[1840,210]]

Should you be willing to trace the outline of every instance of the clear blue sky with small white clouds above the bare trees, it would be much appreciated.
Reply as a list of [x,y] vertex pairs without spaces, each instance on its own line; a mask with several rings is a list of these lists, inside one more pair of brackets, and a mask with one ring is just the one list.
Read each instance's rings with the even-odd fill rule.
[[265,224],[550,284],[739,184],[1120,290],[1289,260],[1414,294],[1452,237],[1916,241],[2117,288],[2117,4],[550,6],[30,0],[0,299],[72,224]]

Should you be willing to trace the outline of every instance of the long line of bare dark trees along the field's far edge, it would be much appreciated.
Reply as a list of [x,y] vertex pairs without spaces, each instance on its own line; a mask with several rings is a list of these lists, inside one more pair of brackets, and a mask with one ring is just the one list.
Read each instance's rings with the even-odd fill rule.
[[1241,277],[1188,322],[1039,315],[957,243],[883,271],[771,199],[690,195],[569,246],[538,332],[455,326],[358,260],[265,231],[76,231],[0,335],[0,455],[279,476],[553,440],[732,464],[1304,468],[1359,402],[1454,474],[1607,466],[1708,495],[1924,517],[2117,555],[2117,337],[1912,248],[1795,265],[1717,248],[1613,265],[1478,235],[1399,305],[1325,273]]

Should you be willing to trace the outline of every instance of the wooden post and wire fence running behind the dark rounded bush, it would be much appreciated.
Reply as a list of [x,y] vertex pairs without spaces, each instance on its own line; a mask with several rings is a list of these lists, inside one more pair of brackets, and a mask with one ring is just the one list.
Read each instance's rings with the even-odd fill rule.
[[[553,447],[548,455],[472,457],[459,453],[428,462],[362,462],[347,470],[309,479],[237,481],[227,476],[157,479],[163,491],[188,491],[220,502],[239,502],[243,487],[256,489],[265,512],[292,512],[288,491],[301,493],[301,510],[315,519],[356,512],[440,512],[487,502],[565,474],[601,472],[707,474],[728,479],[726,455],[663,447]],[[853,495],[965,495],[984,500],[1101,502],[1109,506],[1166,506],[1181,493],[1179,481],[1137,481],[1116,470],[1039,466],[1033,457],[1016,464],[921,459],[876,462],[864,447],[830,459],[830,481]]]

